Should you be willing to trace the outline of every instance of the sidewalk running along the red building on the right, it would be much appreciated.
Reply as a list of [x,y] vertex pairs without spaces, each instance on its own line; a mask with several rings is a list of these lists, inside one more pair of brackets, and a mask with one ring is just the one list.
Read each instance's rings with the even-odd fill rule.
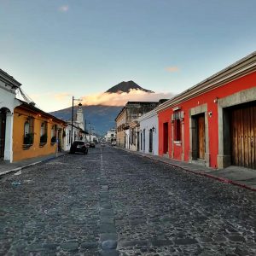
[[236,186],[243,187],[245,189],[256,191],[256,170],[253,169],[247,169],[240,166],[229,166],[224,169],[216,170],[206,166],[195,165],[181,160],[173,160],[158,155],[145,154],[138,151],[131,151],[125,148],[119,149],[125,150],[126,152],[129,152],[131,154],[138,154],[143,157],[147,157],[151,160],[160,161],[166,163],[167,165],[182,168],[184,171],[192,172],[195,175],[211,177],[217,179],[222,183],[230,183]]

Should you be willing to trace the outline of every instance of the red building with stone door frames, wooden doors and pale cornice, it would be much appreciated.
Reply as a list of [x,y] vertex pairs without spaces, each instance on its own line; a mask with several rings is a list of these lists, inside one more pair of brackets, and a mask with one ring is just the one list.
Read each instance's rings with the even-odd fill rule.
[[160,155],[256,169],[256,51],[156,110]]

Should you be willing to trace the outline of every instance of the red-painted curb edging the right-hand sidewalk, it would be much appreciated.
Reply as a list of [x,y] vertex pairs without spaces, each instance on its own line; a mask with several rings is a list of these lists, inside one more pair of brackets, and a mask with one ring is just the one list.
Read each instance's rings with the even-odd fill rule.
[[[133,151],[127,150],[125,148],[117,148],[117,149],[121,149],[121,150],[126,151],[126,152],[131,153],[131,154],[137,154],[137,153],[134,153]],[[198,176],[210,177],[212,179],[218,180],[221,183],[231,184],[231,185],[234,185],[234,186],[237,186],[237,187],[241,187],[242,189],[248,189],[248,190],[256,192],[256,189],[254,189],[254,188],[252,188],[250,186],[247,186],[246,184],[242,184],[242,183],[238,183],[236,181],[233,181],[233,180],[231,180],[229,178],[218,177],[218,176],[214,176],[212,174],[208,174],[208,173],[205,173],[205,172],[195,172],[195,171],[189,170],[189,169],[187,169],[185,167],[177,166],[177,165],[172,164],[172,163],[168,163],[168,162],[166,162],[164,160],[154,159],[154,158],[150,157],[147,154],[137,154],[137,155],[140,155],[142,157],[148,158],[150,160],[155,160],[155,161],[160,162],[160,163],[164,163],[164,164],[166,164],[168,166],[174,166],[174,167],[180,168],[180,169],[182,169],[185,172],[190,172],[190,173],[193,173],[193,174],[198,175]]]

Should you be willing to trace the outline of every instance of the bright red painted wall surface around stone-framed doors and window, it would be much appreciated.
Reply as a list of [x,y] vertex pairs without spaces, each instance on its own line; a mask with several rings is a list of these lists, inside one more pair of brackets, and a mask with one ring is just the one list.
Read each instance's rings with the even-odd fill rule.
[[[201,96],[183,102],[178,105],[173,105],[171,108],[167,108],[158,113],[159,117],[159,154],[163,154],[163,123],[169,122],[169,157],[172,157],[172,108],[181,107],[184,112],[184,160],[189,160],[189,109],[195,108],[202,104],[207,103],[207,111],[212,111],[212,117],[207,115],[208,119],[208,132],[209,132],[209,152],[210,152],[210,166],[217,167],[217,155],[218,155],[218,103],[214,103],[214,99],[218,99],[230,96],[241,90],[247,90],[256,86],[256,72],[247,74],[240,79],[231,81],[228,84],[224,84],[215,90],[211,90]],[[206,131],[207,132],[207,131]],[[174,144],[173,158],[181,160],[182,158],[182,145]]]

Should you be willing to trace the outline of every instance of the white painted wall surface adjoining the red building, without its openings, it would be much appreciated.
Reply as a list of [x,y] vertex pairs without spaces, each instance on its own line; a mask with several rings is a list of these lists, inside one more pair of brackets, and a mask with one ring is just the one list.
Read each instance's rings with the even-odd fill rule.
[[[158,155],[158,148],[159,148],[159,141],[158,141],[158,116],[157,113],[154,113],[153,115],[150,115],[148,118],[144,119],[145,117],[142,116],[140,121],[140,136],[143,134],[143,130],[145,129],[145,151],[142,150],[142,145],[140,141],[140,151],[144,152],[146,154],[154,154]],[[153,132],[153,151],[152,153],[149,153],[149,130],[154,127]]]

